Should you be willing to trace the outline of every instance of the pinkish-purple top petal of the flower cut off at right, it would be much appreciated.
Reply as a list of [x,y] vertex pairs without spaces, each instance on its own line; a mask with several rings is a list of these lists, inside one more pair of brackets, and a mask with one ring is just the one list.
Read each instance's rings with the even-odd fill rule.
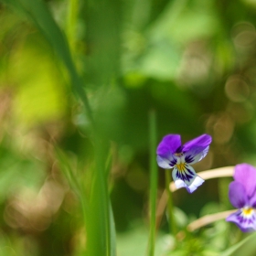
[[248,197],[252,197],[256,189],[256,168],[248,164],[235,166],[235,181],[240,182],[246,189]]

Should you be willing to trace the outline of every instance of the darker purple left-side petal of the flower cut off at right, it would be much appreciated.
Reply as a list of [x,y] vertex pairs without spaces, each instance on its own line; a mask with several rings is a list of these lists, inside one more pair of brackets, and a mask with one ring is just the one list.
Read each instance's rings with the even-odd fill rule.
[[245,188],[237,181],[229,184],[229,200],[234,208],[243,208],[249,203]]

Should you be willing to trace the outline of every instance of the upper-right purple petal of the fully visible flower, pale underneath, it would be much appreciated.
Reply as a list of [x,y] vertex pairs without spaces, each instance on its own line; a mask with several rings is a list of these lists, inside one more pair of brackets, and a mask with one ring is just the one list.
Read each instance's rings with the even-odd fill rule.
[[208,154],[211,136],[203,134],[196,139],[183,145],[183,153],[186,156],[187,164],[195,164]]

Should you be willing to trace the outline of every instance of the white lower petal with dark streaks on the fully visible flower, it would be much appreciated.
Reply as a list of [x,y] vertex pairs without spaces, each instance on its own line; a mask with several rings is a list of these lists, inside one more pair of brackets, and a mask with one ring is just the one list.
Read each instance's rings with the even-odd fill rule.
[[190,165],[185,165],[186,168],[180,171],[177,166],[173,170],[173,179],[176,188],[186,187],[189,193],[194,192],[197,187],[204,183],[204,180],[197,176],[194,168]]

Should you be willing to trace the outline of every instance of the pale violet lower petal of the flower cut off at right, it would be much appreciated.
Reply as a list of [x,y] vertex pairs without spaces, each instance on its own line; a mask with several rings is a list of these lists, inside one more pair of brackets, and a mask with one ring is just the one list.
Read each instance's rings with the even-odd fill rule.
[[234,222],[243,232],[256,230],[256,214],[254,210],[250,216],[246,216],[243,214],[242,209],[239,209],[230,214],[226,220]]

